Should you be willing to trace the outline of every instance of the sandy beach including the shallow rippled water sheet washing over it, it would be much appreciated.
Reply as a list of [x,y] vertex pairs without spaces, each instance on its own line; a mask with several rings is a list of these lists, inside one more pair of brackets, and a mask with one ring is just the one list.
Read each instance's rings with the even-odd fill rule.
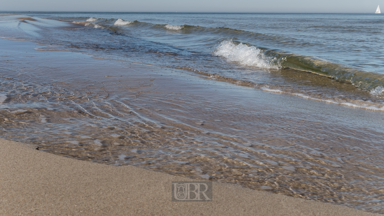
[[[19,17],[1,23],[16,38],[0,39],[1,215],[371,215],[356,196],[379,209],[382,112],[54,50],[25,41],[35,21]],[[213,181],[213,201],[172,202],[172,181]]]

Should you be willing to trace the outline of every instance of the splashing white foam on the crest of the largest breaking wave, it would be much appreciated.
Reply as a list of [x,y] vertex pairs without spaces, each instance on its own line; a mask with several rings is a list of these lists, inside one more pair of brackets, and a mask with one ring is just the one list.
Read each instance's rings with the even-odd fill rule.
[[266,60],[260,49],[242,43],[235,45],[231,41],[223,41],[214,51],[214,55],[223,56],[228,61],[237,62],[242,65],[278,69],[278,66],[268,64],[268,60]]

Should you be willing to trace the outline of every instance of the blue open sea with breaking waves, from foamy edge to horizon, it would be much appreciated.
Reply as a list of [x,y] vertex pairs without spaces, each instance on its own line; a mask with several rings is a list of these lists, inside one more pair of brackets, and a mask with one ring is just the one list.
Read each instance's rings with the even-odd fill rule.
[[70,35],[38,33],[36,40],[51,49],[161,62],[218,80],[232,78],[266,91],[348,106],[372,110],[384,106],[380,14],[26,14],[88,27]]

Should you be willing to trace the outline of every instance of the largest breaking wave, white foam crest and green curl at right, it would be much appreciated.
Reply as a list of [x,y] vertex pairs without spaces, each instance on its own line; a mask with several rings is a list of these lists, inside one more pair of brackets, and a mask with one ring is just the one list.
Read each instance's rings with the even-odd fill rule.
[[314,56],[273,50],[242,42],[237,38],[220,43],[213,52],[228,61],[267,69],[291,68],[345,80],[371,95],[384,96],[384,75],[352,68]]

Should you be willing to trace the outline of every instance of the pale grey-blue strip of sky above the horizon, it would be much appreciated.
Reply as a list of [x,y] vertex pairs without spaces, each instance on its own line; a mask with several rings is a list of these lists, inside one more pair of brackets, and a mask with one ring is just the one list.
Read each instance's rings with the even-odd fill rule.
[[384,0],[8,0],[0,11],[373,13],[379,4],[384,9]]

